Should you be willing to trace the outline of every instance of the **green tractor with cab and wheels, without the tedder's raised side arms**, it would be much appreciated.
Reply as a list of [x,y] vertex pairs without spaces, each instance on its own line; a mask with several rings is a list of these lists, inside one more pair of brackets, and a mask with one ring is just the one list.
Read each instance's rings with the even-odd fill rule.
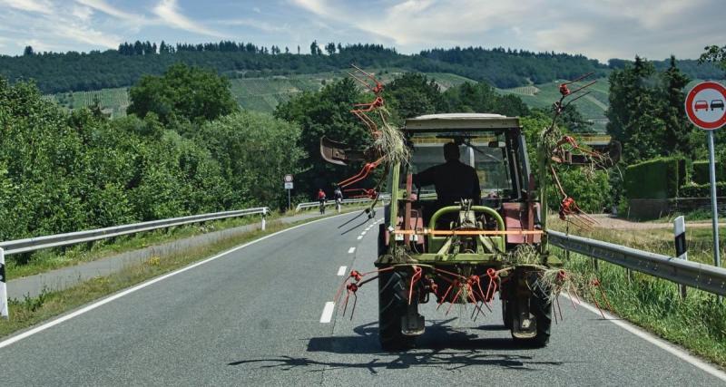
[[[413,346],[425,329],[419,304],[472,304],[479,314],[496,293],[512,337],[544,346],[553,297],[539,278],[561,262],[546,250],[539,215],[544,197],[534,185],[518,118],[435,114],[407,120],[402,131],[411,159],[388,173],[391,201],[378,230],[381,346]],[[479,198],[438,198],[446,189],[415,184],[419,173],[444,161],[446,143],[476,171]]]

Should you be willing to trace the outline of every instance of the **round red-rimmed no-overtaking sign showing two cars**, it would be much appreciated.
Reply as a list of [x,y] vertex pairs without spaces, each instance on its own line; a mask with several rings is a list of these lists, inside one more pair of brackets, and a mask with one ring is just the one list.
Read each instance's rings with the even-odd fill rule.
[[693,125],[712,131],[726,124],[726,87],[718,82],[701,82],[686,96],[686,115]]

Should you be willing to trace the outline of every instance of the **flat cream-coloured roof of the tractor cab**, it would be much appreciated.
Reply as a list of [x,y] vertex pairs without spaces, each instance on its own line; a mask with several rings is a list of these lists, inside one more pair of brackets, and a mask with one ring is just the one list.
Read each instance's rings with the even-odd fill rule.
[[486,113],[446,113],[427,114],[408,119],[403,130],[411,133],[426,133],[432,131],[501,131],[519,127],[519,117]]

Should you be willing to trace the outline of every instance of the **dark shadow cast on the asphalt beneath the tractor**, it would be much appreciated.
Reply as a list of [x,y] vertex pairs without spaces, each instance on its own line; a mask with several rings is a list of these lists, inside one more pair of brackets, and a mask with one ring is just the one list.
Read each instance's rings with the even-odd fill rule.
[[[409,369],[413,367],[434,367],[456,371],[471,366],[497,366],[509,369],[537,371],[533,365],[561,365],[563,362],[535,360],[534,355],[526,354],[526,348],[510,339],[479,338],[476,334],[466,334],[452,330],[441,321],[428,326],[425,334],[417,340],[416,349],[408,352],[385,352],[378,345],[378,324],[359,325],[354,329],[355,336],[313,337],[308,342],[308,353],[313,355],[330,353],[334,356],[295,357],[281,355],[265,359],[249,359],[232,362],[228,365],[259,363],[260,368],[276,368],[283,371],[299,367],[309,367],[310,372],[331,369],[358,368],[371,373],[378,370]],[[478,329],[500,330],[499,325],[483,325]],[[510,353],[502,353],[509,351]],[[515,353],[515,352],[522,353]],[[494,352],[494,353],[493,353]],[[341,355],[371,355],[351,359],[346,362]],[[316,357],[316,358],[313,358]],[[335,360],[329,360],[335,359]]]

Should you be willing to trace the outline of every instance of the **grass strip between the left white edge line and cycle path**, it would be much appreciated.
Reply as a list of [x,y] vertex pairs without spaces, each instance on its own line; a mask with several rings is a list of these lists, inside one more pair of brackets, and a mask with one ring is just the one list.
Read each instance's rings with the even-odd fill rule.
[[228,237],[209,245],[185,250],[168,256],[153,256],[142,264],[127,266],[111,276],[96,277],[79,285],[60,291],[43,292],[42,295],[24,300],[10,300],[10,319],[0,318],[0,337],[14,334],[54,316],[64,314],[93,300],[111,295],[124,288],[161,276],[203,258],[221,253],[231,247],[269,235],[285,228],[307,223],[317,218],[283,224],[272,221],[265,231],[256,230],[239,236]]

